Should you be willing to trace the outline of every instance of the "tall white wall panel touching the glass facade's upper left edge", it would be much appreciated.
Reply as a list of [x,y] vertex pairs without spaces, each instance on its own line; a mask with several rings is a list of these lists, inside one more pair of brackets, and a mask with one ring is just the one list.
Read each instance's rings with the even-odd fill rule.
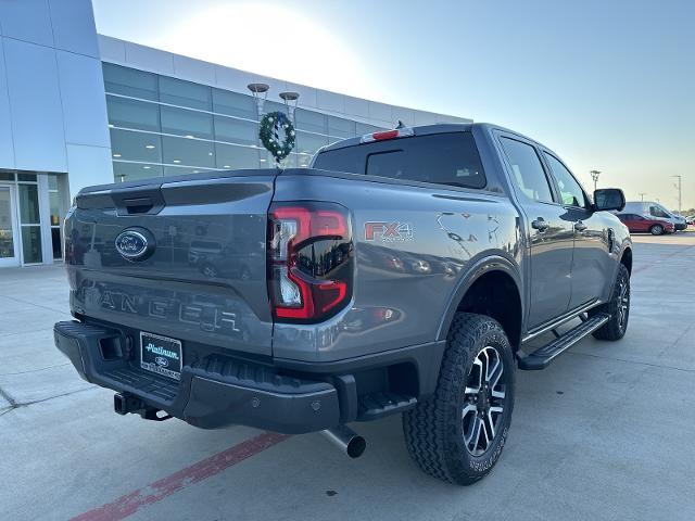
[[65,51],[56,51],[56,58],[65,140],[111,147],[101,62]]

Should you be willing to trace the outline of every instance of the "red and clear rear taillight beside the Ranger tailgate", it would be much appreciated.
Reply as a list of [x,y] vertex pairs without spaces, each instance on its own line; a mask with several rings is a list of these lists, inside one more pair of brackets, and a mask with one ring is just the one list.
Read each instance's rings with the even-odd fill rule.
[[333,203],[279,203],[268,211],[268,293],[280,321],[315,322],[352,296],[348,209]]

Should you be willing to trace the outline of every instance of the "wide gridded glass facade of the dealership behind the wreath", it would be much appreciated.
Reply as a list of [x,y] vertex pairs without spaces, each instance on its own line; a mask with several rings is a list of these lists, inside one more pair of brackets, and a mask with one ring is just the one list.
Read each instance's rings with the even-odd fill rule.
[[[252,96],[111,63],[103,74],[116,181],[269,165]],[[286,107],[266,101],[264,110]],[[325,144],[380,130],[304,109],[294,117],[296,144],[286,167],[307,166]]]

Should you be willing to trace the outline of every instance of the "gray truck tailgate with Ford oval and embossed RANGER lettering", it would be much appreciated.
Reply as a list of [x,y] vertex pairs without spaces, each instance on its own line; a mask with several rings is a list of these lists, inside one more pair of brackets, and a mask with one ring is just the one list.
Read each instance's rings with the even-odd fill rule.
[[[65,221],[74,312],[184,346],[271,355],[266,223],[277,173],[213,173],[80,192]],[[142,242],[140,258],[124,256],[129,247],[141,253]]]

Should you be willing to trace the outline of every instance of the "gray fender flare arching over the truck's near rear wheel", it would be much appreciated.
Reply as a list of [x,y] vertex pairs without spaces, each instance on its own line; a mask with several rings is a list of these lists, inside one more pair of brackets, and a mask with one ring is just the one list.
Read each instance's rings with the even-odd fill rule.
[[448,298],[446,310],[442,316],[439,328],[437,329],[438,341],[446,340],[446,335],[448,334],[451,325],[454,321],[454,315],[456,314],[458,304],[466,295],[466,292],[480,277],[493,271],[501,271],[503,274],[506,274],[511,277],[511,280],[514,280],[514,283],[517,287],[517,291],[519,292],[519,301],[521,303],[521,330],[523,331],[523,326],[526,323],[526,305],[523,297],[523,282],[521,276],[519,275],[519,268],[507,257],[504,257],[502,255],[489,255],[475,260],[473,264],[468,267],[466,272],[460,277],[456,289]]

